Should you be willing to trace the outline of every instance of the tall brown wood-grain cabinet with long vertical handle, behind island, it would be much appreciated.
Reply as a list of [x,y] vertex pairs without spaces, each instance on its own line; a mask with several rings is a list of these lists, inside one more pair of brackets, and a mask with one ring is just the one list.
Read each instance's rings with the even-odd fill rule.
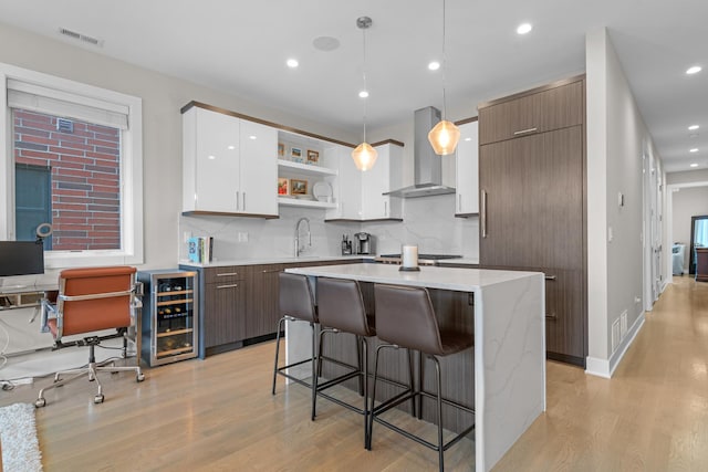
[[480,265],[544,272],[548,357],[585,366],[585,78],[479,106]]

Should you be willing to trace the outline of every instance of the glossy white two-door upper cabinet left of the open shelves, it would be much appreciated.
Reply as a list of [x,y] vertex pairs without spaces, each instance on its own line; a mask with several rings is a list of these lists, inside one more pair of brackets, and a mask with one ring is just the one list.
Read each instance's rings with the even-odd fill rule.
[[183,140],[183,211],[278,216],[275,129],[192,106]]

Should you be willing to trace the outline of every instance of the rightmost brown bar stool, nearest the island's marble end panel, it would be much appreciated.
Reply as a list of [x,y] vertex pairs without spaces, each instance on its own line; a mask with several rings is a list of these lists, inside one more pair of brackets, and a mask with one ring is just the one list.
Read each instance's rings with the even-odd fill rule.
[[[442,440],[442,403],[452,406],[468,413],[475,413],[475,410],[460,403],[441,398],[441,380],[440,380],[440,363],[438,357],[448,356],[460,353],[473,346],[473,338],[469,335],[460,333],[440,332],[430,302],[430,295],[426,289],[376,284],[374,286],[375,311],[376,311],[376,335],[378,338],[388,344],[382,344],[376,348],[374,360],[374,386],[372,392],[372,412],[368,422],[368,444],[372,447],[372,436],[374,421],[381,423],[408,439],[438,451],[438,463],[440,471],[445,470],[444,452],[460,439],[475,429],[472,423],[465,431],[457,434],[447,443]],[[417,389],[409,389],[404,394],[393,397],[379,406],[374,407],[376,400],[376,378],[378,374],[378,357],[382,349],[386,348],[406,348],[415,349],[425,354],[435,364],[436,386],[435,395],[424,391],[421,386]],[[420,366],[423,369],[423,365]],[[394,408],[395,406],[410,398],[428,397],[436,400],[438,416],[438,440],[434,444],[409,431],[384,420],[379,415]],[[423,399],[420,398],[420,402]],[[418,409],[420,411],[420,408]],[[418,413],[418,418],[420,413]]]

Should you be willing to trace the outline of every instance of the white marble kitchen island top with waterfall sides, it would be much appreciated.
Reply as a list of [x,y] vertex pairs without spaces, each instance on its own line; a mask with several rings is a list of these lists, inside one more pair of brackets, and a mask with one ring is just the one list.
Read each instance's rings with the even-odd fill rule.
[[[424,286],[473,297],[476,470],[488,471],[545,411],[544,277],[539,272],[420,268],[391,264],[292,268],[285,272],[364,283]],[[295,324],[296,325],[296,324]],[[309,355],[308,331],[288,328],[288,357]]]

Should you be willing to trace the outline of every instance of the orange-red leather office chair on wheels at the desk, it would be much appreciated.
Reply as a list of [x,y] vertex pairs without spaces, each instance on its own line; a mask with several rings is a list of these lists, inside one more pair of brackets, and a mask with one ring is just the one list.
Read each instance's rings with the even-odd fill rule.
[[[113,266],[69,269],[60,273],[56,300],[46,300],[42,304],[42,331],[50,332],[54,337],[54,349],[88,346],[88,365],[56,373],[54,384],[40,390],[34,402],[37,408],[46,405],[44,391],[83,376],[88,376],[88,380],[95,380],[98,392],[94,397],[94,402],[102,403],[103,390],[96,375],[100,370],[111,373],[132,370],[136,373],[138,382],[145,379],[139,367],[139,353],[137,365],[134,367],[117,367],[112,360],[96,363],[94,355],[94,347],[101,340],[123,336],[123,356],[126,356],[127,328],[134,325],[135,308],[139,306],[139,300],[135,293],[135,268]],[[117,331],[116,335],[94,335],[70,343],[62,342],[63,336],[113,328]],[[62,375],[71,375],[71,377],[62,379]]]

